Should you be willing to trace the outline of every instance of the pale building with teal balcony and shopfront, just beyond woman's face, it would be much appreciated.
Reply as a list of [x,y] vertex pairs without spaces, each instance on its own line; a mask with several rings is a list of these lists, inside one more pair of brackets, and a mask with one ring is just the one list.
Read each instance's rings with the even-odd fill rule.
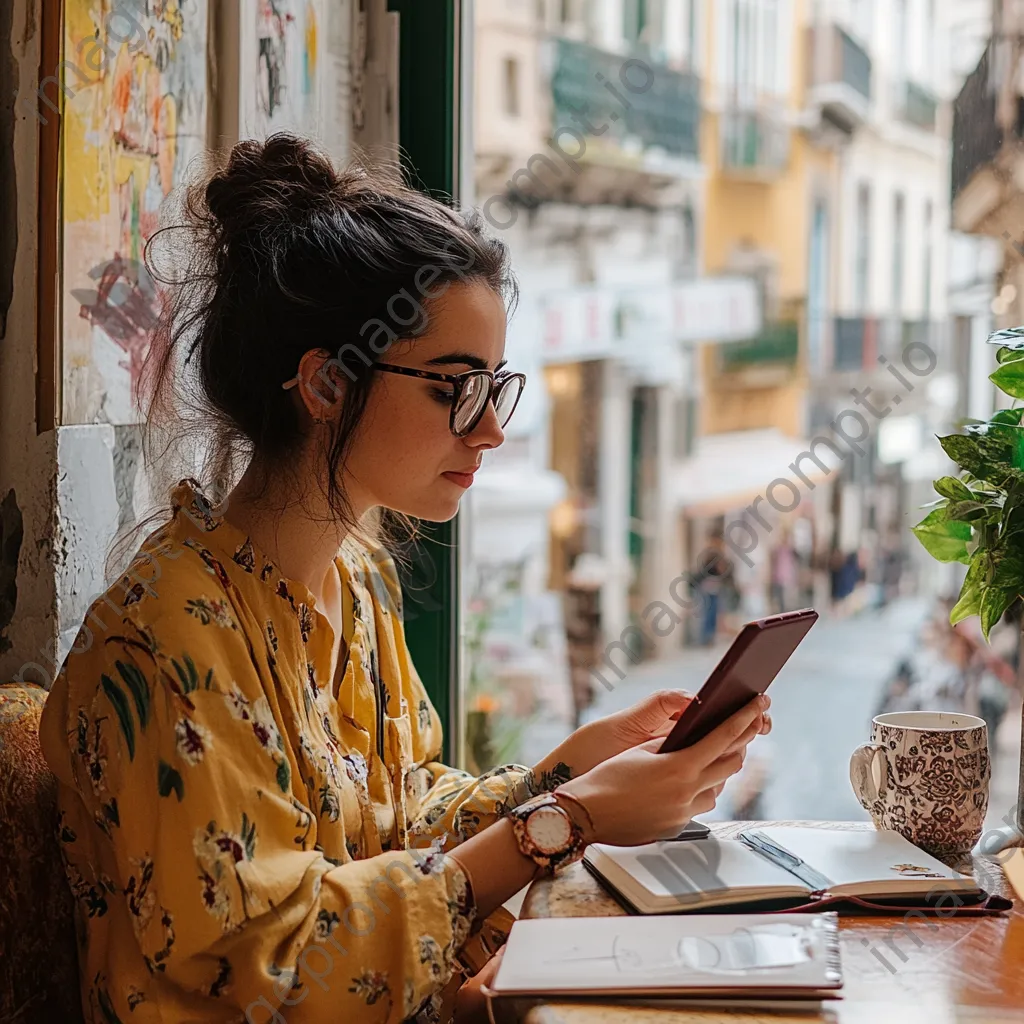
[[507,352],[530,382],[470,496],[468,550],[521,562],[524,600],[596,586],[605,639],[679,571],[665,467],[691,429],[684,342],[759,324],[749,281],[700,278],[706,6],[474,7],[473,202],[512,250]]

